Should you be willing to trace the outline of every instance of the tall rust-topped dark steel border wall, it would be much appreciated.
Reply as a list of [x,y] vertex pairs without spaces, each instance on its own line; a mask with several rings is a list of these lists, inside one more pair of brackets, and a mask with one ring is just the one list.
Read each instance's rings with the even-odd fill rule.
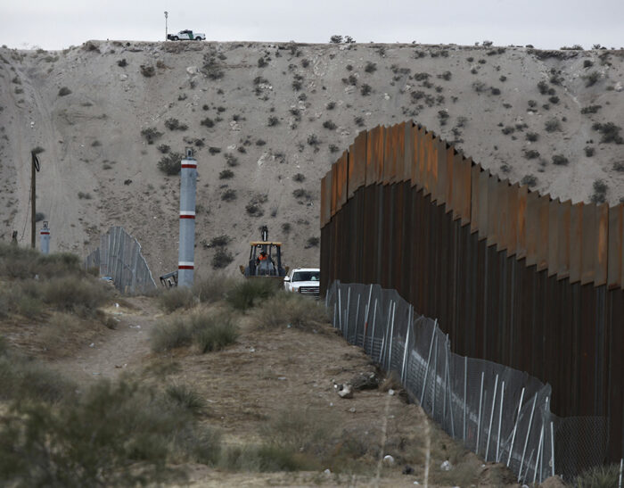
[[624,455],[624,204],[510,185],[411,121],[360,133],[321,194],[322,293],[396,289],[455,352],[550,383],[557,415],[609,418]]

